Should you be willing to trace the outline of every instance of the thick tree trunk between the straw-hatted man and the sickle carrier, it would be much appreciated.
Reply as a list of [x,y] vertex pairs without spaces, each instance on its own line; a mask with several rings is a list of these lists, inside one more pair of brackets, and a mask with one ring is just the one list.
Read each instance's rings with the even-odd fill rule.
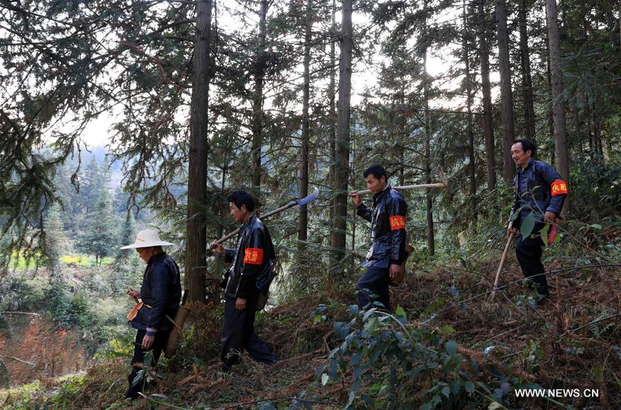
[[188,159],[188,227],[185,285],[188,301],[205,299],[209,52],[212,0],[197,0],[190,147]]

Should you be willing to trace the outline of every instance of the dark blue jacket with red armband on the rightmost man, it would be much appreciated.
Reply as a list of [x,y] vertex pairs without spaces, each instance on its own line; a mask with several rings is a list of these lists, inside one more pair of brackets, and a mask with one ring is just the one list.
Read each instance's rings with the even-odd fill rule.
[[517,167],[515,179],[515,196],[511,216],[515,218],[513,225],[519,227],[524,218],[533,212],[535,222],[542,222],[548,211],[560,214],[563,202],[567,196],[567,183],[549,164],[531,159],[526,168]]

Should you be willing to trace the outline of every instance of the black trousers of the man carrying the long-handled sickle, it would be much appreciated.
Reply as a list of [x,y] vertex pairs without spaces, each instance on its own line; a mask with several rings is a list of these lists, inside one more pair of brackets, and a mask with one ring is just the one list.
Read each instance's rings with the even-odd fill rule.
[[277,356],[270,351],[265,342],[255,333],[255,315],[257,314],[257,296],[246,299],[246,309],[237,310],[237,298],[224,298],[224,320],[220,340],[221,359],[225,369],[230,369],[241,361],[244,349],[258,362],[273,364]]

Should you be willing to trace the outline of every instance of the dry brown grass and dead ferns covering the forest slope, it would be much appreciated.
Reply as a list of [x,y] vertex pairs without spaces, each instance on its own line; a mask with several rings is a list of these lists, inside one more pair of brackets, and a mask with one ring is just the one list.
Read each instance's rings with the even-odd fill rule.
[[[466,358],[474,358],[486,367],[504,369],[507,374],[525,381],[538,382],[545,388],[593,387],[600,389],[600,402],[567,399],[575,407],[609,408],[621,402],[621,388],[612,372],[621,369],[618,351],[620,319],[604,320],[595,335],[589,327],[572,331],[591,322],[602,312],[618,314],[621,308],[619,269],[582,269],[552,276],[554,298],[538,309],[533,309],[520,298],[528,293],[521,283],[512,283],[504,289],[507,298],[497,295],[490,303],[486,296],[466,302],[465,311],[460,300],[491,289],[495,261],[477,269],[484,277],[463,270],[461,265],[447,265],[433,271],[409,274],[400,287],[392,289],[393,306],[404,307],[408,320],[415,327],[442,329],[447,325],[455,334],[447,336],[459,343],[459,351]],[[547,268],[557,268],[549,264]],[[514,258],[509,258],[502,283],[511,283],[522,277]],[[461,295],[453,296],[455,286]],[[328,293],[328,292],[326,292]],[[323,314],[326,320],[313,322],[317,305],[335,301]],[[321,387],[315,379],[315,369],[326,363],[330,349],[339,340],[333,334],[333,322],[348,320],[343,306],[354,303],[353,290],[331,291],[329,294],[310,294],[275,307],[257,316],[257,333],[273,348],[280,362],[266,366],[244,354],[243,362],[233,374],[221,373],[219,336],[222,307],[193,305],[188,318],[190,338],[179,354],[164,366],[159,389],[169,402],[179,407],[242,408],[255,407],[257,400],[283,400],[306,391],[307,398],[344,403],[348,381],[330,383]],[[429,320],[429,306],[438,313]],[[489,354],[482,351],[493,346]],[[535,360],[529,360],[532,347]],[[469,360],[464,360],[469,362]],[[68,409],[106,408],[119,402],[126,389],[126,364],[115,360],[89,369],[87,381],[80,393],[66,403]],[[468,371],[464,367],[464,371]],[[599,372],[599,373],[598,373]],[[53,383],[50,383],[50,388]],[[603,396],[603,397],[602,397]],[[159,400],[159,399],[157,399]],[[536,408],[541,402],[521,402],[527,408]],[[145,401],[134,407],[148,408]],[[338,408],[337,404],[317,404],[319,408]]]

